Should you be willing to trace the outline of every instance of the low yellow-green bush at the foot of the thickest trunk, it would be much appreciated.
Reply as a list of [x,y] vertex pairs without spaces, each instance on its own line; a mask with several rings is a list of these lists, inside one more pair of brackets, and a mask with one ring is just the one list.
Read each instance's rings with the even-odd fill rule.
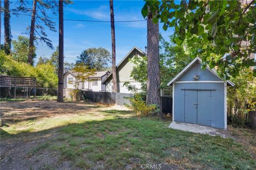
[[143,95],[138,93],[134,94],[133,97],[128,97],[131,105],[126,104],[125,106],[135,111],[138,115],[153,115],[159,112],[159,107],[157,105],[146,105],[145,100],[143,100]]

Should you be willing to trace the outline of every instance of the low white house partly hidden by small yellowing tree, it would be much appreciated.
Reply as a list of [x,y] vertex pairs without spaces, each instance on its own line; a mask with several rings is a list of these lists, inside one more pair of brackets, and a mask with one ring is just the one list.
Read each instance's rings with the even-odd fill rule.
[[[78,89],[91,90],[91,91],[105,91],[105,84],[102,84],[102,81],[105,80],[109,71],[98,71],[95,74],[88,78],[87,81],[81,82],[78,86]],[[68,70],[64,75],[64,88],[65,89],[75,89],[76,82],[76,73]]]

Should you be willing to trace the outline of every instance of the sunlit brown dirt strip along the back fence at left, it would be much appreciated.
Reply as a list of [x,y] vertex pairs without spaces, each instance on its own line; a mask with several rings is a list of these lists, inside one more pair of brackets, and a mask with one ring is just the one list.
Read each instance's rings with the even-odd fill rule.
[[77,114],[88,112],[100,107],[98,105],[88,105],[82,102],[77,103],[57,103],[56,101],[11,101],[1,102],[1,118],[3,123],[13,121],[35,120],[43,117],[51,117],[63,114]]

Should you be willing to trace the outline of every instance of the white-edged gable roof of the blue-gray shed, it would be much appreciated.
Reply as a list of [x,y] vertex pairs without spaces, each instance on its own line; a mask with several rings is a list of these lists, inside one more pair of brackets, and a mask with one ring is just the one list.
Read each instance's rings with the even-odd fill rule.
[[[196,62],[199,62],[202,64],[202,59],[199,57],[196,57],[193,61],[191,61],[179,74],[177,74],[168,84],[167,86],[172,85],[175,81],[177,81],[183,74],[185,74],[190,68],[191,66],[193,66]],[[210,72],[212,72],[214,75],[216,75],[218,78],[219,75],[217,74],[217,72],[214,69],[210,69],[210,67],[207,65],[206,69],[209,70]],[[221,79],[221,78],[220,78]],[[221,79],[222,80],[222,79]],[[235,84],[229,80],[226,81],[230,86],[235,86]]]

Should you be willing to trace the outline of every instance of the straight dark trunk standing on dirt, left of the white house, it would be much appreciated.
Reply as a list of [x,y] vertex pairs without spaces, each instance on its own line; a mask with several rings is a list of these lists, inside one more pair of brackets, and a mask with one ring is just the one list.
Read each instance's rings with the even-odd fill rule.
[[63,63],[64,63],[64,32],[63,32],[63,1],[59,1],[59,70],[58,70],[58,102],[63,102]]

